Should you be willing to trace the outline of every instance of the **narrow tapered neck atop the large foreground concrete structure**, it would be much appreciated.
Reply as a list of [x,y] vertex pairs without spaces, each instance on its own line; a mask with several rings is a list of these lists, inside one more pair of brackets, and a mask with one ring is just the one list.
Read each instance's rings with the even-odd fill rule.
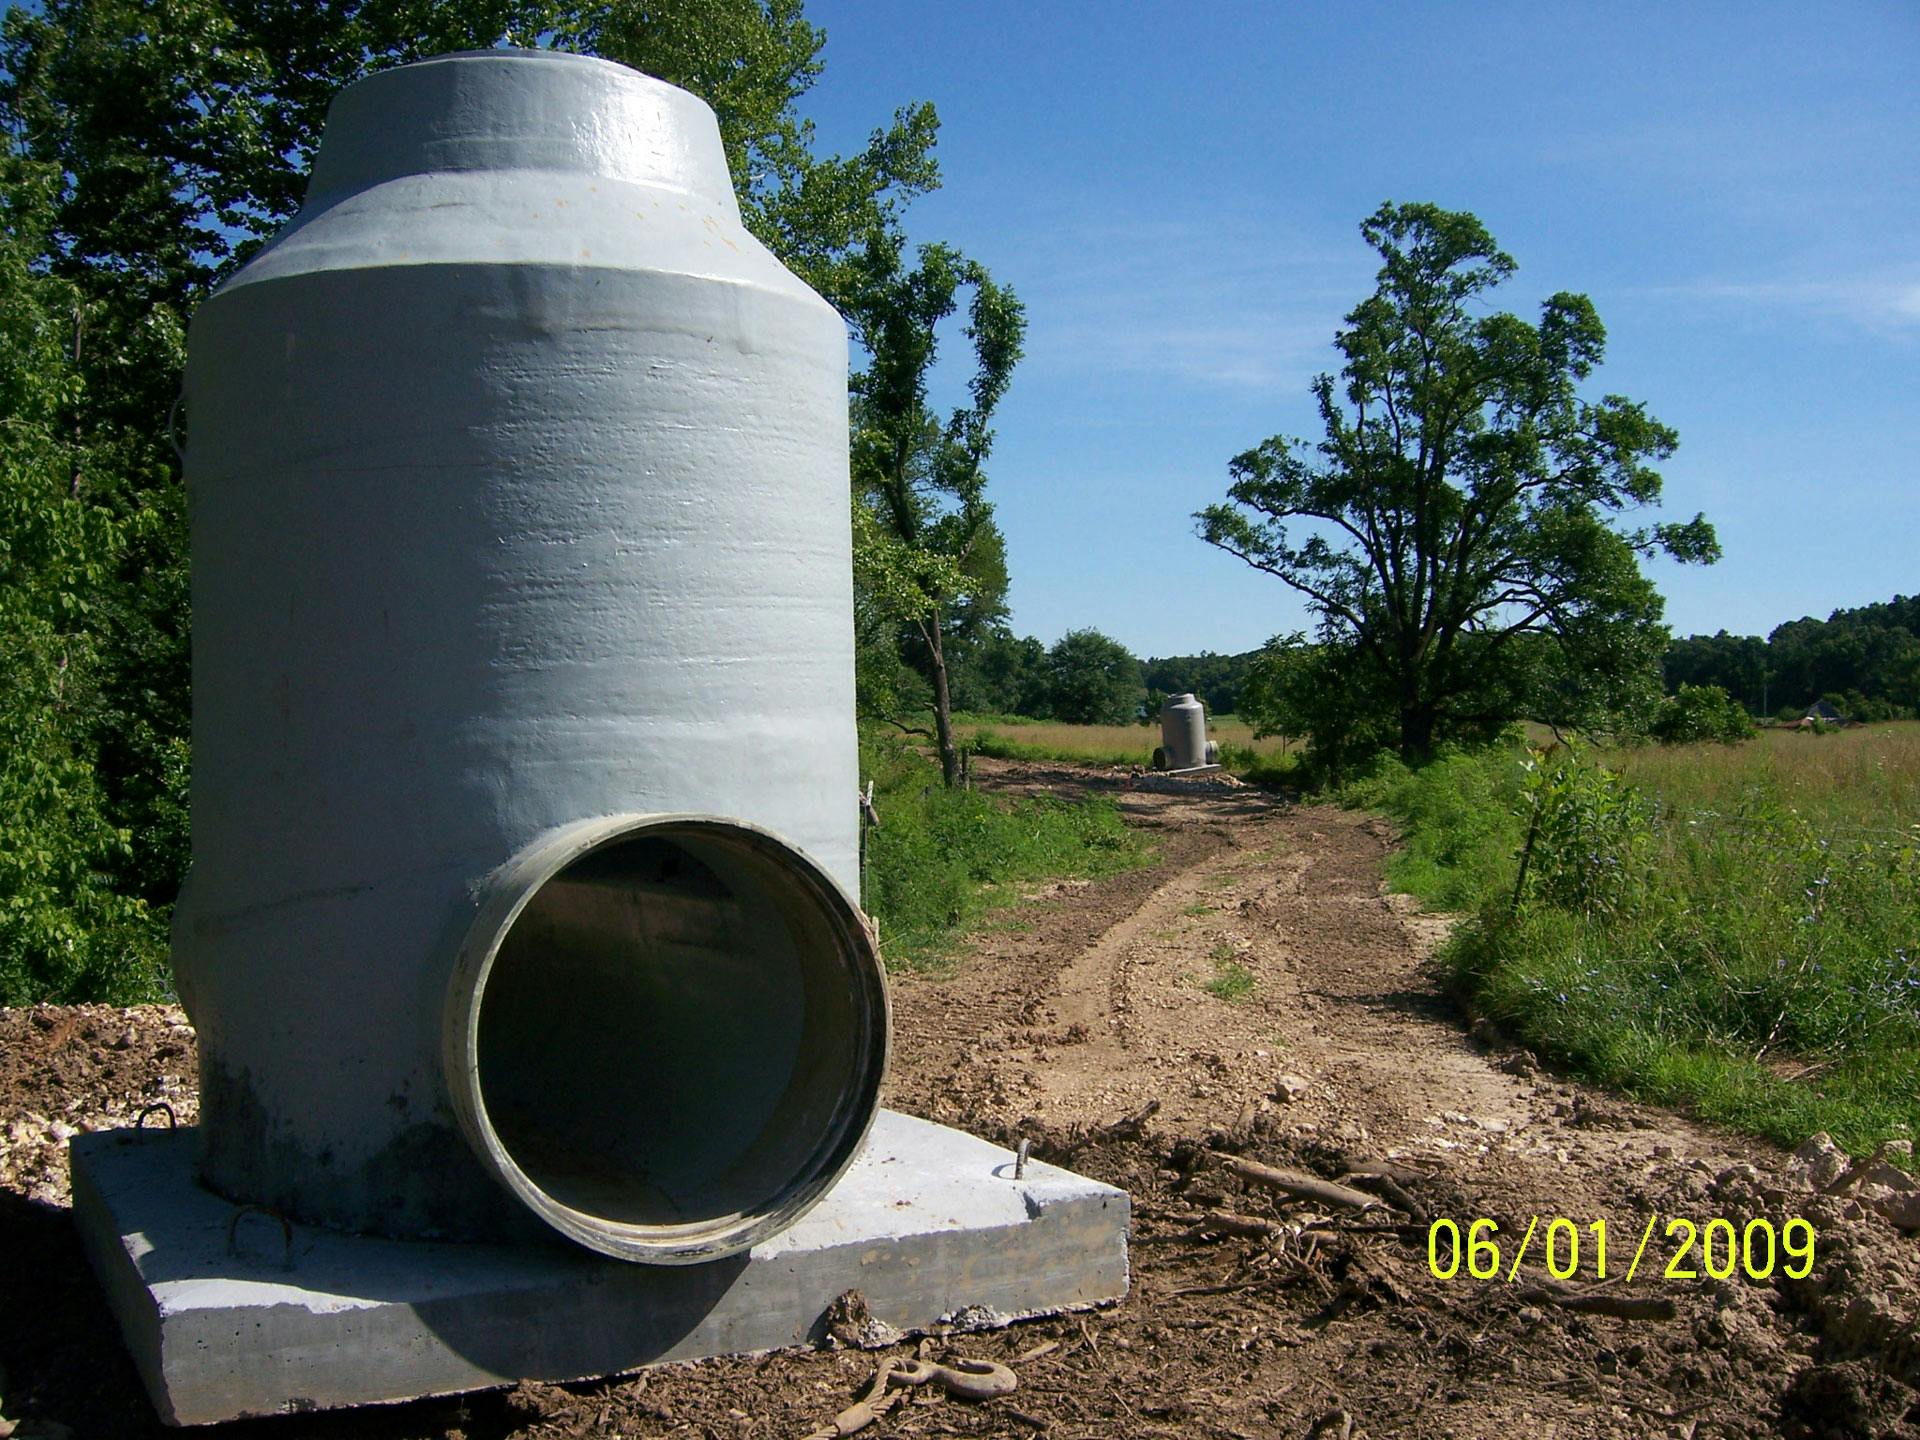
[[557,50],[463,50],[349,84],[326,111],[307,204],[447,171],[595,175],[739,215],[707,102]]

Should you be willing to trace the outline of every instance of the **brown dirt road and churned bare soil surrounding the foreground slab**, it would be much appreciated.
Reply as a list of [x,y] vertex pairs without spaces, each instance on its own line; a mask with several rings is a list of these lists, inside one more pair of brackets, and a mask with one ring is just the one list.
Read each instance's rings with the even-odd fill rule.
[[[1845,1190],[1814,1196],[1836,1179],[1830,1158],[1703,1131],[1469,1035],[1425,968],[1444,922],[1382,893],[1380,822],[1066,766],[979,760],[977,776],[1110,791],[1160,862],[1043,887],[950,972],[902,977],[889,1102],[1125,1185],[1135,1290],[1108,1311],[935,1338],[931,1357],[1012,1363],[1020,1392],[925,1396],[872,1434],[1920,1436],[1920,1238]],[[48,1137],[52,1121],[125,1123],[148,1098],[186,1108],[190,1075],[177,1014],[0,1012],[0,1413],[154,1432]],[[1235,1156],[1380,1204],[1294,1200],[1235,1175]],[[1713,1279],[1724,1240],[1711,1269],[1697,1244],[1680,1261],[1695,1279],[1663,1273],[1684,1238],[1668,1221],[1726,1219],[1757,1242],[1766,1227],[1751,1221],[1778,1235],[1793,1215],[1818,1235],[1803,1281],[1782,1275],[1784,1254],[1770,1279],[1738,1265]],[[1498,1221],[1498,1279],[1465,1263],[1438,1279],[1434,1219]],[[1582,1240],[1559,1288],[1549,1229],[1563,1271],[1569,1231]],[[223,1434],[803,1436],[876,1359],[714,1361]]]

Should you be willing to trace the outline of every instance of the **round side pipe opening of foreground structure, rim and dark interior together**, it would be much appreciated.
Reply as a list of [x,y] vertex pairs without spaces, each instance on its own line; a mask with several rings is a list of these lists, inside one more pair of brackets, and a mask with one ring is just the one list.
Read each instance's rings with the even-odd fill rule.
[[747,1250],[852,1162],[887,998],[858,908],[780,837],[616,816],[495,874],[455,964],[455,1112],[493,1175],[603,1254]]

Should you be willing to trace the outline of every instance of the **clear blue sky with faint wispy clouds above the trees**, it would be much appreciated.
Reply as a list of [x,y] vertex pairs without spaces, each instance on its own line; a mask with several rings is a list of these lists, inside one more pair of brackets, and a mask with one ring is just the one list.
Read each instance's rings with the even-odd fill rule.
[[824,148],[931,100],[945,188],[910,228],[1027,303],[989,465],[1020,634],[1175,655],[1306,624],[1190,515],[1231,455],[1317,434],[1382,200],[1475,211],[1521,267],[1505,309],[1594,298],[1594,394],[1680,432],[1667,515],[1726,549],[1655,566],[1678,634],[1920,589],[1912,0],[806,13]]

